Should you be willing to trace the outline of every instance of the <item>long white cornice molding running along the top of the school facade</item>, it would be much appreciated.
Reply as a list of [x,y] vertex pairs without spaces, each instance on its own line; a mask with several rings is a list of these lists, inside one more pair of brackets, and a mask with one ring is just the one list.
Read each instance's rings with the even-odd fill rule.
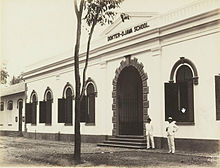
[[[140,51],[136,48],[140,44],[155,39],[161,41],[162,38],[166,39],[170,35],[175,36],[175,33],[185,34],[186,31],[194,30],[195,26],[205,25],[207,23],[217,21],[219,20],[220,15],[219,7],[217,5],[218,2],[219,0],[201,0],[200,2],[187,5],[167,14],[151,18],[149,20],[151,28],[147,31],[134,34],[133,36],[129,36],[112,43],[103,43],[103,41],[98,41],[90,51],[90,58],[99,59],[100,56],[108,57],[116,50],[119,52],[119,50],[126,50],[127,48],[132,47],[135,48],[136,51]],[[195,36],[198,37],[200,34],[201,32],[198,32]],[[157,56],[160,51],[153,49],[152,52],[153,56]],[[80,53],[80,61],[83,62],[84,59],[85,51]],[[73,66],[73,62],[73,57],[70,56],[69,58],[62,60],[54,60],[52,63],[44,64],[43,66],[42,64],[34,66],[34,68],[26,70],[23,73],[24,79],[34,78],[45,73],[51,73],[71,67]]]

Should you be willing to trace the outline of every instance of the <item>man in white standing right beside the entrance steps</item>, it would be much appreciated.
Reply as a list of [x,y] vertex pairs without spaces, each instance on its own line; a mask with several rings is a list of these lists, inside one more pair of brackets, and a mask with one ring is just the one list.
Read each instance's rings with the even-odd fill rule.
[[146,138],[147,138],[147,149],[150,149],[150,142],[152,149],[155,148],[154,146],[154,136],[153,136],[153,125],[151,123],[151,119],[147,119],[146,123]]

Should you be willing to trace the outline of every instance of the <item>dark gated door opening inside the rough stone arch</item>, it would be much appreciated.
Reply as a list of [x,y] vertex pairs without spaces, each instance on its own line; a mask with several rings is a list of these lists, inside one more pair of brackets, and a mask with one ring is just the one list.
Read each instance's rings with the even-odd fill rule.
[[124,68],[117,83],[119,135],[143,135],[142,80],[133,66]]

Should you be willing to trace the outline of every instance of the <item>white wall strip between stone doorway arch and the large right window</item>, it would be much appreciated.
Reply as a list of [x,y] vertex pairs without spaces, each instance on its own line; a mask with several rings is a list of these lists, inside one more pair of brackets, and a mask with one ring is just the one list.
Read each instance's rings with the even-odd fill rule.
[[148,75],[147,85],[149,87],[148,115],[152,120],[154,135],[161,136],[163,122],[162,118],[162,81],[161,81],[161,56],[152,55],[152,52],[145,52],[133,55],[140,63],[144,65],[144,72]]

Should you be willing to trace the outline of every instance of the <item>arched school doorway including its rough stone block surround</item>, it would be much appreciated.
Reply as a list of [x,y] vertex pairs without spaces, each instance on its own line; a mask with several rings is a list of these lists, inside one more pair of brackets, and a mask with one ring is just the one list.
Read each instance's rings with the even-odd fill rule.
[[145,135],[148,119],[147,74],[136,58],[125,57],[115,71],[113,85],[112,135]]

